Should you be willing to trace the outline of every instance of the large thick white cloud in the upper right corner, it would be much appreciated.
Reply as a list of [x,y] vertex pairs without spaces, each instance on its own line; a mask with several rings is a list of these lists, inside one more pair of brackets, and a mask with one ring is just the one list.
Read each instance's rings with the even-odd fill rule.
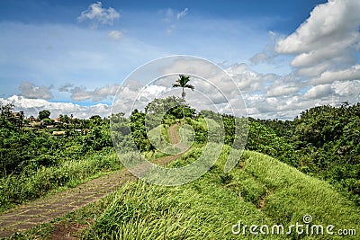
[[316,6],[311,16],[289,37],[277,42],[279,53],[310,52],[322,49],[338,40],[346,40],[356,33],[360,22],[357,0],[329,0]]

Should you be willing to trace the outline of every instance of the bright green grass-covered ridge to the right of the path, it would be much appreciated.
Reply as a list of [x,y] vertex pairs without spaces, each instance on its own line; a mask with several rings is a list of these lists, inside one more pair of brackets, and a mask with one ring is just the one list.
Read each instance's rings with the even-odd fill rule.
[[[179,187],[131,182],[121,187],[101,216],[85,231],[88,239],[234,239],[231,227],[241,224],[302,224],[310,214],[312,223],[327,227],[359,229],[360,212],[327,182],[299,172],[272,157],[245,152],[239,164],[223,173],[225,148],[209,173]],[[180,159],[178,161],[185,161]],[[325,231],[325,230],[324,230]],[[293,229],[287,235],[251,235],[246,238],[302,238]],[[311,238],[315,236],[306,236]],[[316,236],[336,239],[340,236]]]

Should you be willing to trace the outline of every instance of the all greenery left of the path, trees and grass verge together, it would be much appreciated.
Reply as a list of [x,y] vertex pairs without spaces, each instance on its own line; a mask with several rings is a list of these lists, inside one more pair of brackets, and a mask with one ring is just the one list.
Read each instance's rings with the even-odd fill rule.
[[38,120],[31,127],[12,104],[1,105],[0,211],[121,167],[112,149],[109,120],[65,115],[55,128],[48,128],[53,126],[48,111],[40,111]]

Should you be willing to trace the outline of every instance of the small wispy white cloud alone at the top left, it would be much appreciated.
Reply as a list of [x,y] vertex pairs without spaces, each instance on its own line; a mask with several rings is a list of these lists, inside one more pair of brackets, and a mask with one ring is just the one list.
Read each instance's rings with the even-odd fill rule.
[[[108,9],[103,8],[101,2],[91,4],[80,16],[77,17],[78,22],[84,22],[90,20],[92,22],[112,25],[113,21],[121,17],[120,13],[116,12],[115,9],[109,7]],[[96,24],[94,23],[94,24]]]

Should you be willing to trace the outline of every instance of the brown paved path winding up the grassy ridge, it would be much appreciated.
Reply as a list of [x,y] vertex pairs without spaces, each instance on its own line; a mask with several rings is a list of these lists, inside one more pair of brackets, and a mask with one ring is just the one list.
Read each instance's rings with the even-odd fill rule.
[[[177,128],[178,125],[170,127],[168,134],[171,143],[179,145],[180,138]],[[155,163],[166,165],[182,154],[164,156],[158,158]],[[34,200],[16,209],[11,209],[0,215],[0,238],[29,230],[40,223],[49,223],[54,218],[59,218],[70,211],[100,200],[110,192],[119,189],[126,182],[136,180],[137,178],[129,171],[122,169],[85,182],[73,189],[61,191],[47,198]]]

